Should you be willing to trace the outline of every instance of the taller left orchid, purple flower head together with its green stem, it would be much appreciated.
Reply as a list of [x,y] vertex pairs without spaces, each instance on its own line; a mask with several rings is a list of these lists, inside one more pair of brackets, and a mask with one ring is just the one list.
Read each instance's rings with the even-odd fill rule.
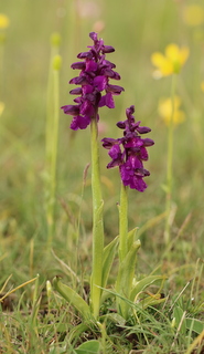
[[[88,46],[87,52],[79,53],[79,62],[72,64],[72,69],[79,70],[79,75],[69,81],[77,85],[71,91],[77,95],[73,105],[63,106],[65,114],[73,116],[71,128],[74,131],[85,129],[90,125],[90,149],[92,149],[92,192],[93,192],[93,268],[90,277],[89,309],[95,319],[99,315],[101,288],[107,279],[108,271],[104,269],[104,201],[100,186],[99,148],[98,148],[98,108],[107,106],[115,107],[114,96],[119,95],[124,88],[109,83],[110,79],[120,80],[120,75],[114,71],[116,65],[106,60],[106,54],[115,49],[105,45],[95,32],[89,33],[94,44]],[[109,258],[108,258],[109,259]],[[65,291],[67,293],[67,291]],[[73,291],[68,290],[69,298]],[[78,295],[75,294],[75,306],[77,308]],[[84,300],[80,301],[83,314],[86,314],[87,306]]]

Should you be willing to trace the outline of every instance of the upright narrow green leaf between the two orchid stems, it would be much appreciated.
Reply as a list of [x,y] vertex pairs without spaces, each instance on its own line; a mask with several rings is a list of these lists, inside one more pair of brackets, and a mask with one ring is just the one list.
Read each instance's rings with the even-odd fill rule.
[[116,247],[118,244],[119,237],[117,236],[109,244],[107,244],[104,249],[103,254],[103,281],[101,281],[101,288],[106,288],[106,283],[108,280],[108,275],[111,269],[111,264],[114,261],[114,257],[116,253]]

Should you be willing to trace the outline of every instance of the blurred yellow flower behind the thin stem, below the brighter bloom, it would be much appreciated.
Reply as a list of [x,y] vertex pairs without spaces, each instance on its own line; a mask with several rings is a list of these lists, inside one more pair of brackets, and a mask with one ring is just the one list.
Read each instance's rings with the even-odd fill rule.
[[[179,96],[174,96],[174,113],[173,113],[173,124],[178,125],[185,121],[185,114],[180,110],[181,98]],[[170,124],[172,119],[172,100],[171,98],[162,98],[159,102],[158,112],[161,118],[164,121],[167,125]]]

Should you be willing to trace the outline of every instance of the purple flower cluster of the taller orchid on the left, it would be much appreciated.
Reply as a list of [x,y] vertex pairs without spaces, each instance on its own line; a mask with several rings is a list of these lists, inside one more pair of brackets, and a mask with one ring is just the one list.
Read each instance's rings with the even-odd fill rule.
[[89,51],[77,55],[83,61],[71,65],[72,69],[80,70],[80,73],[69,81],[71,84],[79,85],[79,87],[69,93],[79,96],[74,100],[75,105],[62,107],[65,114],[73,116],[71,128],[74,131],[85,129],[92,118],[98,121],[98,107],[114,108],[112,96],[119,95],[124,91],[121,86],[109,84],[109,79],[120,80],[120,75],[112,70],[116,65],[106,60],[106,53],[111,53],[115,49],[105,45],[101,39],[97,39],[95,32],[89,33],[89,37],[94,41],[94,45],[88,46]]

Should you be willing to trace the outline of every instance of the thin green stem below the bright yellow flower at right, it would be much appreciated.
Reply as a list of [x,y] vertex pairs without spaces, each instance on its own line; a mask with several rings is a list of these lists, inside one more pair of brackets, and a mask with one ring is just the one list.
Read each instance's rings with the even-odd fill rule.
[[165,244],[170,242],[170,231],[171,231],[171,205],[172,205],[172,185],[173,185],[173,176],[172,176],[172,166],[173,166],[173,116],[174,116],[174,102],[175,102],[175,86],[176,86],[176,75],[172,76],[172,86],[171,86],[171,104],[172,104],[172,113],[171,119],[169,124],[168,132],[168,166],[167,166],[167,199],[165,199],[165,230],[164,230],[164,240]]

